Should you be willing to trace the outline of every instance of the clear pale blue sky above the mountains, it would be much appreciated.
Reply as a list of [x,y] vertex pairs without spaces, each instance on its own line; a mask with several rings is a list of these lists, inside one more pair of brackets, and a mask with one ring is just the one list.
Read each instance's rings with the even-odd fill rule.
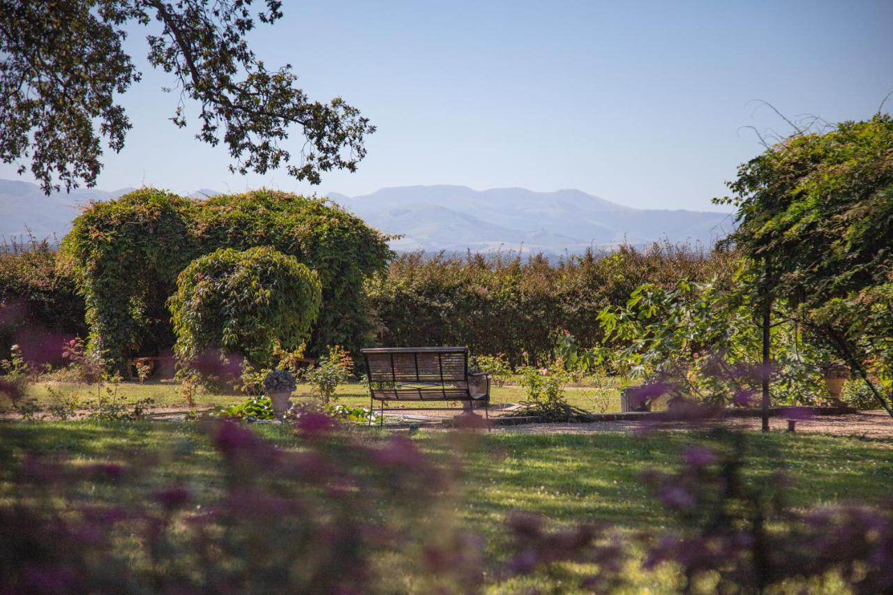
[[[283,4],[249,41],[268,67],[292,64],[311,98],[342,96],[378,127],[357,172],[316,187],[284,170],[230,174],[226,148],[195,138],[195,104],[187,129],[167,120],[173,79],[148,66],[134,27],[144,79],[121,96],[133,129],[96,187],[356,196],[459,184],[722,210],[711,198],[762,150],[745,127],[789,132],[755,100],[841,122],[871,117],[893,90],[893,0]],[[294,129],[286,146],[301,145]]]

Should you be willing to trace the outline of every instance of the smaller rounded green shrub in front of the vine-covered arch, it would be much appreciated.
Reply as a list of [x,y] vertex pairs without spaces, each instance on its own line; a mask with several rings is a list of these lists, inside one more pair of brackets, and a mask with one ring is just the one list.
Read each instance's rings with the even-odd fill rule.
[[319,275],[271,247],[221,248],[179,273],[168,300],[176,356],[220,349],[270,367],[275,346],[296,349],[322,301]]

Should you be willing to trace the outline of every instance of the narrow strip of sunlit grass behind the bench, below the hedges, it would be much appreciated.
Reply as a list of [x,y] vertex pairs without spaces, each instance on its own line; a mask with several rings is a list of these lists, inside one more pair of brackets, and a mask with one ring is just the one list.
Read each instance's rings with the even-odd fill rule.
[[[109,387],[110,385],[105,385]],[[567,401],[570,405],[587,411],[602,410],[597,403],[596,396],[604,405],[605,411],[620,411],[620,393],[617,390],[618,382],[615,379],[606,379],[605,388],[596,387],[569,387],[566,390]],[[117,387],[118,397],[135,401],[139,398],[154,399],[155,406],[186,406],[185,399],[179,395],[179,384],[175,381],[146,381],[121,382]],[[96,402],[97,390],[104,391],[96,385],[77,384],[75,382],[45,381],[36,382],[29,386],[29,397],[36,398],[43,406],[52,405],[60,396],[68,396],[76,393],[81,403]],[[306,384],[298,384],[295,398],[309,396],[310,387]],[[490,390],[491,402],[519,403],[524,399],[524,390],[519,386],[492,387]],[[365,384],[350,383],[338,385],[335,393],[339,403],[348,406],[369,406],[369,389]],[[245,401],[245,395],[240,393],[208,393],[200,392],[196,395],[196,403],[200,406],[230,406]],[[438,406],[438,403],[426,404]],[[391,406],[394,406],[392,403]],[[444,404],[446,406],[446,404]]]

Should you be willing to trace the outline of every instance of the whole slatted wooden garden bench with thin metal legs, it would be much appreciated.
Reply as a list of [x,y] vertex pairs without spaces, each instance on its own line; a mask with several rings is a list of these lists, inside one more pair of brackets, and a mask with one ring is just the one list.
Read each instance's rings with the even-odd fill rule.
[[[480,404],[489,418],[490,377],[469,371],[468,348],[369,348],[362,353],[369,377],[370,408],[374,400],[380,401],[381,423],[388,401],[465,401],[463,410],[472,413],[473,406]],[[401,408],[455,409],[414,405]]]

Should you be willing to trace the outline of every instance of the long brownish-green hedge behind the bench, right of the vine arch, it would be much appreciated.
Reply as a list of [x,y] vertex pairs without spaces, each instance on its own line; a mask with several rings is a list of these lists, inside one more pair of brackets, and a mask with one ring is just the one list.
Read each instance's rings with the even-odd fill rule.
[[593,320],[605,306],[622,306],[647,281],[709,279],[732,260],[727,252],[669,245],[588,250],[552,261],[404,254],[369,281],[367,292],[382,345],[463,345],[472,353],[504,354],[513,367],[547,365],[555,331],[570,331],[581,346],[596,345],[601,331]]

